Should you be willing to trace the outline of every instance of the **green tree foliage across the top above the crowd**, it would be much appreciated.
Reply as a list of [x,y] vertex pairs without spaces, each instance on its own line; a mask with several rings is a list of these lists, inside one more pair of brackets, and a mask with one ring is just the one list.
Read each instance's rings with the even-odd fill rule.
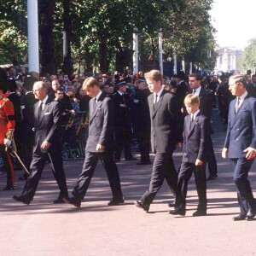
[[[79,67],[108,71],[121,46],[132,48],[139,32],[141,61],[158,59],[158,33],[163,32],[164,57],[177,56],[211,68],[215,62],[214,29],[208,11],[213,0],[70,0],[72,54]],[[61,67],[63,0],[55,0],[55,61]],[[38,4],[43,4],[39,0]],[[26,0],[1,1],[0,59],[26,61]],[[39,19],[40,20],[40,19]],[[207,52],[211,50],[212,56]],[[3,56],[3,57],[2,57]]]

